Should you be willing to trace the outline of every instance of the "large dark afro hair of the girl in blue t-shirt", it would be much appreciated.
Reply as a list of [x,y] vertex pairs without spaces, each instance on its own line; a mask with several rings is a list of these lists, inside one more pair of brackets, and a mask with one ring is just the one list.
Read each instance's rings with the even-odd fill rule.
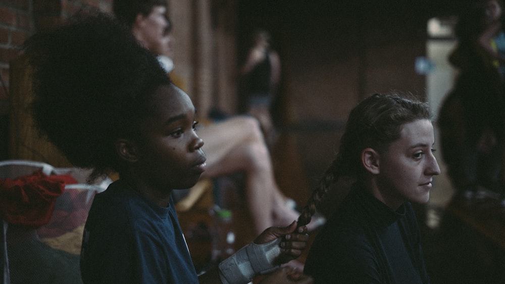
[[114,142],[135,133],[149,98],[170,79],[131,32],[105,14],[76,16],[24,44],[33,117],[69,161],[93,176],[120,171]]

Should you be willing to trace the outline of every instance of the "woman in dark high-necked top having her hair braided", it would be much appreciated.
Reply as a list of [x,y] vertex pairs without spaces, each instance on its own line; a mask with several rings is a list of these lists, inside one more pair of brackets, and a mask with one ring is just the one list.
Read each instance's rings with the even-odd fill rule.
[[374,94],[351,111],[337,157],[298,219],[309,222],[329,188],[351,179],[307,257],[304,272],[316,283],[429,282],[411,202],[428,202],[440,173],[430,118],[426,103],[396,94]]

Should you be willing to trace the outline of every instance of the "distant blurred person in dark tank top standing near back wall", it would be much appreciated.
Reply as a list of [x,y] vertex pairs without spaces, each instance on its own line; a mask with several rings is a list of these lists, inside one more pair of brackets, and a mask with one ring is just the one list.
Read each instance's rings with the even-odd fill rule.
[[271,112],[281,75],[279,55],[272,49],[270,41],[270,33],[265,30],[255,31],[252,34],[252,46],[240,70],[243,111],[260,121],[269,145],[276,138]]

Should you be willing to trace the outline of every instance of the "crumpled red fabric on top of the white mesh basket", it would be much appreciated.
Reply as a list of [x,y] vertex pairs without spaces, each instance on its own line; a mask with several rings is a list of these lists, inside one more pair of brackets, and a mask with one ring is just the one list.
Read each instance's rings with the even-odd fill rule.
[[67,183],[77,180],[71,175],[47,176],[41,170],[15,179],[0,179],[0,217],[32,228],[46,224]]

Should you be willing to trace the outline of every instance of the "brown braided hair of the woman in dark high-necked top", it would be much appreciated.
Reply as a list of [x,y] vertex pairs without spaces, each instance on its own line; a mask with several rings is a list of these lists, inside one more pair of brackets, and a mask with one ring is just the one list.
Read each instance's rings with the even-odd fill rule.
[[319,180],[307,205],[298,218],[298,226],[307,225],[331,185],[342,177],[362,182],[366,170],[361,163],[361,152],[366,148],[384,151],[398,139],[401,126],[419,119],[431,119],[427,103],[398,94],[373,94],[352,109],[340,139],[335,159]]

